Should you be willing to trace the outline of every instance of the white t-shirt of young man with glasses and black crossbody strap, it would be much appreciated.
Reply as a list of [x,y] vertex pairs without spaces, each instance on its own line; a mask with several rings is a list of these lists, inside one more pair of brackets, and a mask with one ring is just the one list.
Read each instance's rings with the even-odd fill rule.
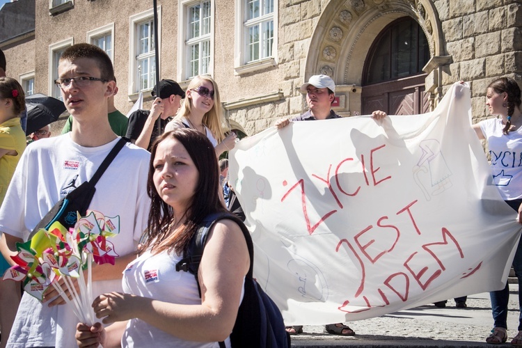
[[[94,175],[119,138],[96,148],[74,143],[70,133],[31,144],[19,161],[0,209],[0,231],[27,240],[29,233],[53,205]],[[120,216],[120,234],[111,237],[118,255],[136,249],[147,226],[150,153],[127,143],[96,184],[89,209]],[[93,296],[122,291],[121,280],[93,282]],[[8,347],[76,347],[79,320],[68,305],[48,303],[24,294]]]

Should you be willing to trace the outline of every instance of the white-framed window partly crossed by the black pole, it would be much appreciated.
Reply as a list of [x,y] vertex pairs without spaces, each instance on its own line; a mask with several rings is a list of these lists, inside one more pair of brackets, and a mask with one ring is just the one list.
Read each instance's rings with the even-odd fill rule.
[[[160,18],[161,7],[158,7]],[[156,84],[156,52],[154,40],[154,17],[152,10],[131,17],[131,49],[129,56],[129,94],[151,90]],[[161,33],[158,19],[158,34]],[[159,39],[161,42],[161,39]]]

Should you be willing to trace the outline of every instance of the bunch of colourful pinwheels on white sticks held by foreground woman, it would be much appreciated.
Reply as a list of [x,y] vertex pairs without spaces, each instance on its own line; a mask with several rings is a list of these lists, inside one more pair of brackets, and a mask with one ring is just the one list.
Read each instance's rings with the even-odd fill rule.
[[24,282],[24,290],[40,301],[52,286],[81,322],[94,324],[90,306],[93,260],[97,264],[114,264],[118,254],[106,237],[119,232],[119,216],[109,217],[94,211],[78,216],[70,230],[55,222],[49,230],[39,230],[31,240],[17,243],[18,253],[11,257],[16,264],[6,271],[3,280]]

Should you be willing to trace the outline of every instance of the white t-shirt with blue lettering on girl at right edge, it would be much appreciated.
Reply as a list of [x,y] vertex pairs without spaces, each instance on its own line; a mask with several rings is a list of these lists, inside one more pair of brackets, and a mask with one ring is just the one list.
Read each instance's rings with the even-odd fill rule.
[[500,118],[479,122],[488,141],[493,180],[504,200],[522,198],[522,128],[502,134]]

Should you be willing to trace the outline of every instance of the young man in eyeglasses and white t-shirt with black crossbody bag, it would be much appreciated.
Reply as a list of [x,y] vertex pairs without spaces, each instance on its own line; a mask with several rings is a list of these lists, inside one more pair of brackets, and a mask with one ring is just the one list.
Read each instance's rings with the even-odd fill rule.
[[[60,58],[58,76],[56,85],[74,118],[72,130],[24,151],[6,193],[9,204],[0,208],[0,250],[7,260],[17,253],[15,243],[26,241],[58,200],[91,180],[120,141],[107,118],[107,100],[116,88],[109,56],[94,45],[72,45]],[[149,159],[150,153],[127,142],[96,184],[88,209],[119,216],[120,233],[111,242],[120,258],[114,265],[94,265],[94,297],[121,292],[122,271],[136,257],[150,209]],[[57,306],[65,302],[52,287],[43,296],[42,302],[27,293],[22,296],[8,347],[76,347],[78,319],[72,308]]]

